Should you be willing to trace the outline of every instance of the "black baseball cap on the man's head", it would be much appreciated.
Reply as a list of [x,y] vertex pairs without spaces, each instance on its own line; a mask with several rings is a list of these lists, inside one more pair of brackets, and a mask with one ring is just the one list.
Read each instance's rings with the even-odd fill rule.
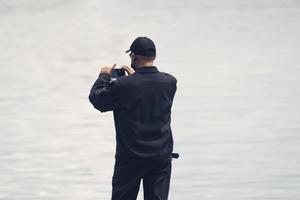
[[131,51],[136,55],[141,56],[155,56],[156,55],[156,47],[154,42],[148,37],[138,37],[136,38],[130,46],[130,49],[125,51],[128,53]]

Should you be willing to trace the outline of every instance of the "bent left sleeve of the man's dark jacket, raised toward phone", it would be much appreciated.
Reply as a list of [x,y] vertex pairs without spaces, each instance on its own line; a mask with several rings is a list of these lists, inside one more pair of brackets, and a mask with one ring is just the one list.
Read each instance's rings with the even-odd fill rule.
[[121,106],[118,82],[110,79],[110,74],[100,73],[90,90],[89,100],[100,112],[112,111]]

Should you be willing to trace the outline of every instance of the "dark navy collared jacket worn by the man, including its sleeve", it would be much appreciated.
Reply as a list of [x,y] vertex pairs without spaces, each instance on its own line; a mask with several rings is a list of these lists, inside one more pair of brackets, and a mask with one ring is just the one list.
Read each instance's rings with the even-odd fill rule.
[[155,66],[140,67],[113,81],[110,74],[99,74],[89,100],[101,112],[113,111],[116,158],[171,159],[171,107],[176,83],[174,76]]

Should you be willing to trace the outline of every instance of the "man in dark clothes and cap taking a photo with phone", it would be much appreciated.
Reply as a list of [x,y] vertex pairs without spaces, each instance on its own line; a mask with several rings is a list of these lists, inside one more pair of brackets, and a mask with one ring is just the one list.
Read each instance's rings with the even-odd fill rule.
[[102,67],[89,100],[100,112],[113,111],[116,154],[112,200],[135,200],[143,179],[145,200],[168,199],[173,137],[171,107],[177,89],[174,76],[153,65],[154,42],[136,38],[127,76],[111,81],[113,67]]

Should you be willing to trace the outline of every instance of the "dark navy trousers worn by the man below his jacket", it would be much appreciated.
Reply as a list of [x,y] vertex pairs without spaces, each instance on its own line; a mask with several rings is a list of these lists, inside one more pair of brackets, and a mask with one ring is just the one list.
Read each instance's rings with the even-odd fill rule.
[[172,162],[127,162],[116,159],[111,200],[136,200],[143,180],[144,200],[167,200]]

